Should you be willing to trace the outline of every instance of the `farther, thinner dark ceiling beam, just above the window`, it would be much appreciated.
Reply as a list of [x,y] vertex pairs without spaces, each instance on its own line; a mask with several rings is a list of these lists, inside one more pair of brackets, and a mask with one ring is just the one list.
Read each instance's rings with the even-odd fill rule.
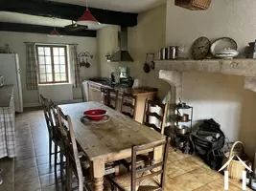
[[[57,27],[56,29],[61,35],[87,36],[87,37],[97,36],[96,31],[84,30],[79,32],[67,32],[65,31],[65,28]],[[48,27],[48,26],[0,22],[0,31],[5,31],[5,32],[33,32],[33,33],[49,34],[53,30],[54,30],[53,27]]]

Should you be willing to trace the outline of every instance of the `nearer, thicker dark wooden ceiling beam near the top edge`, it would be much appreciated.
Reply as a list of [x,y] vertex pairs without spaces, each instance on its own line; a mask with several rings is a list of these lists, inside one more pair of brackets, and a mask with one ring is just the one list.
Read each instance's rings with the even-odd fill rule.
[[[107,11],[89,8],[100,23],[133,27],[137,25],[137,13]],[[1,0],[0,11],[11,11],[37,16],[57,17],[76,21],[85,7],[43,0]]]

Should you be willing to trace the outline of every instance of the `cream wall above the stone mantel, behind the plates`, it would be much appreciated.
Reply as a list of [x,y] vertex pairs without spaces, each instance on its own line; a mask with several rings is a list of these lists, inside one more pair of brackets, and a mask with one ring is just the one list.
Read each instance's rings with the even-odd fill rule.
[[175,0],[167,3],[167,45],[185,45],[190,50],[200,36],[210,40],[231,37],[243,51],[256,36],[256,1],[212,1],[207,11],[189,11],[175,6]]

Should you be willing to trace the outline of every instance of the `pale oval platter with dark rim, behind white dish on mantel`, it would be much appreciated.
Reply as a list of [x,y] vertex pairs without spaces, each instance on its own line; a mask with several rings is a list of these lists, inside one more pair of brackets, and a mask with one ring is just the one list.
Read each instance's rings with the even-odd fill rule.
[[216,53],[220,53],[222,50],[238,50],[238,44],[237,42],[229,37],[222,37],[217,39],[212,43],[211,46],[211,53],[215,55]]

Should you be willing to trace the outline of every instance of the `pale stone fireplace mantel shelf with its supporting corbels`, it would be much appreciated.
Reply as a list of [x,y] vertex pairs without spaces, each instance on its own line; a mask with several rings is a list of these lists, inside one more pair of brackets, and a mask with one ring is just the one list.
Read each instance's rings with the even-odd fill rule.
[[[159,77],[181,86],[183,72],[244,75],[244,88],[256,92],[256,59],[154,60]],[[181,87],[180,87],[181,88]]]

